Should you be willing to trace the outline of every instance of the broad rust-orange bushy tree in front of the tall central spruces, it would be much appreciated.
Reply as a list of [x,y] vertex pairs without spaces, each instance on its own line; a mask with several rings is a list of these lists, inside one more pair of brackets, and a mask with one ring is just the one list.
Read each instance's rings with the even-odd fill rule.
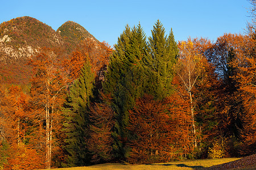
[[151,96],[137,100],[130,111],[131,163],[168,162],[189,151],[189,103],[175,94],[164,101]]

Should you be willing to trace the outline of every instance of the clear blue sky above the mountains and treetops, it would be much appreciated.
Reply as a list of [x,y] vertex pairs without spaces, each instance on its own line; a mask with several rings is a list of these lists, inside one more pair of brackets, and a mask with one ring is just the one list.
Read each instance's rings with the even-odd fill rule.
[[57,29],[72,20],[96,39],[110,45],[117,43],[125,29],[141,23],[147,37],[156,20],[166,33],[172,28],[175,40],[208,37],[215,41],[224,33],[244,33],[250,22],[247,0],[183,0],[183,1],[2,1],[0,23],[20,16],[31,16]]

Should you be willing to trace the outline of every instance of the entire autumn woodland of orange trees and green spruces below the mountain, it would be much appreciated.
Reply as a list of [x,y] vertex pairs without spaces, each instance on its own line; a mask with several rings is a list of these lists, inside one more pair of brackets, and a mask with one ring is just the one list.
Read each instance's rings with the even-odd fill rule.
[[[256,154],[256,32],[175,41],[158,20],[110,48],[42,48],[26,88],[1,83],[0,169]],[[0,77],[1,78],[1,77]]]

